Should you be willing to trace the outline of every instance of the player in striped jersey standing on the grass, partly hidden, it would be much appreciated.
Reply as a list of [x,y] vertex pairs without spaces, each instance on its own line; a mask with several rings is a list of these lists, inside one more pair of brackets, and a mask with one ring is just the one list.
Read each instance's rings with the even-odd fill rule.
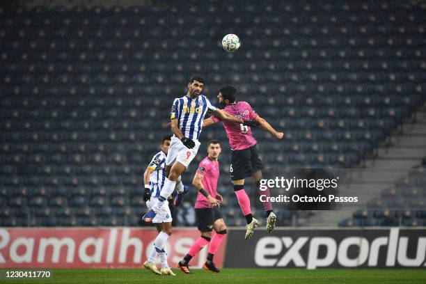
[[[161,187],[164,186],[164,181],[166,180],[165,164],[170,143],[171,135],[164,136],[160,144],[161,151],[157,152],[157,154],[152,157],[148,168],[146,168],[145,173],[143,173],[143,183],[145,184],[143,200],[146,202],[146,205],[149,209],[150,202],[152,202],[153,198],[159,196]],[[168,267],[166,251],[166,242],[168,236],[171,235],[171,222],[171,210],[168,207],[168,204],[165,204],[163,207],[161,207],[161,212],[159,212],[159,214],[155,216],[155,219],[152,220],[152,223],[155,223],[158,235],[151,248],[148,260],[143,263],[143,266],[146,269],[150,269],[150,271],[155,274],[175,276],[173,271],[171,271],[170,267]],[[155,266],[157,254],[159,254],[161,258],[160,271]]]

